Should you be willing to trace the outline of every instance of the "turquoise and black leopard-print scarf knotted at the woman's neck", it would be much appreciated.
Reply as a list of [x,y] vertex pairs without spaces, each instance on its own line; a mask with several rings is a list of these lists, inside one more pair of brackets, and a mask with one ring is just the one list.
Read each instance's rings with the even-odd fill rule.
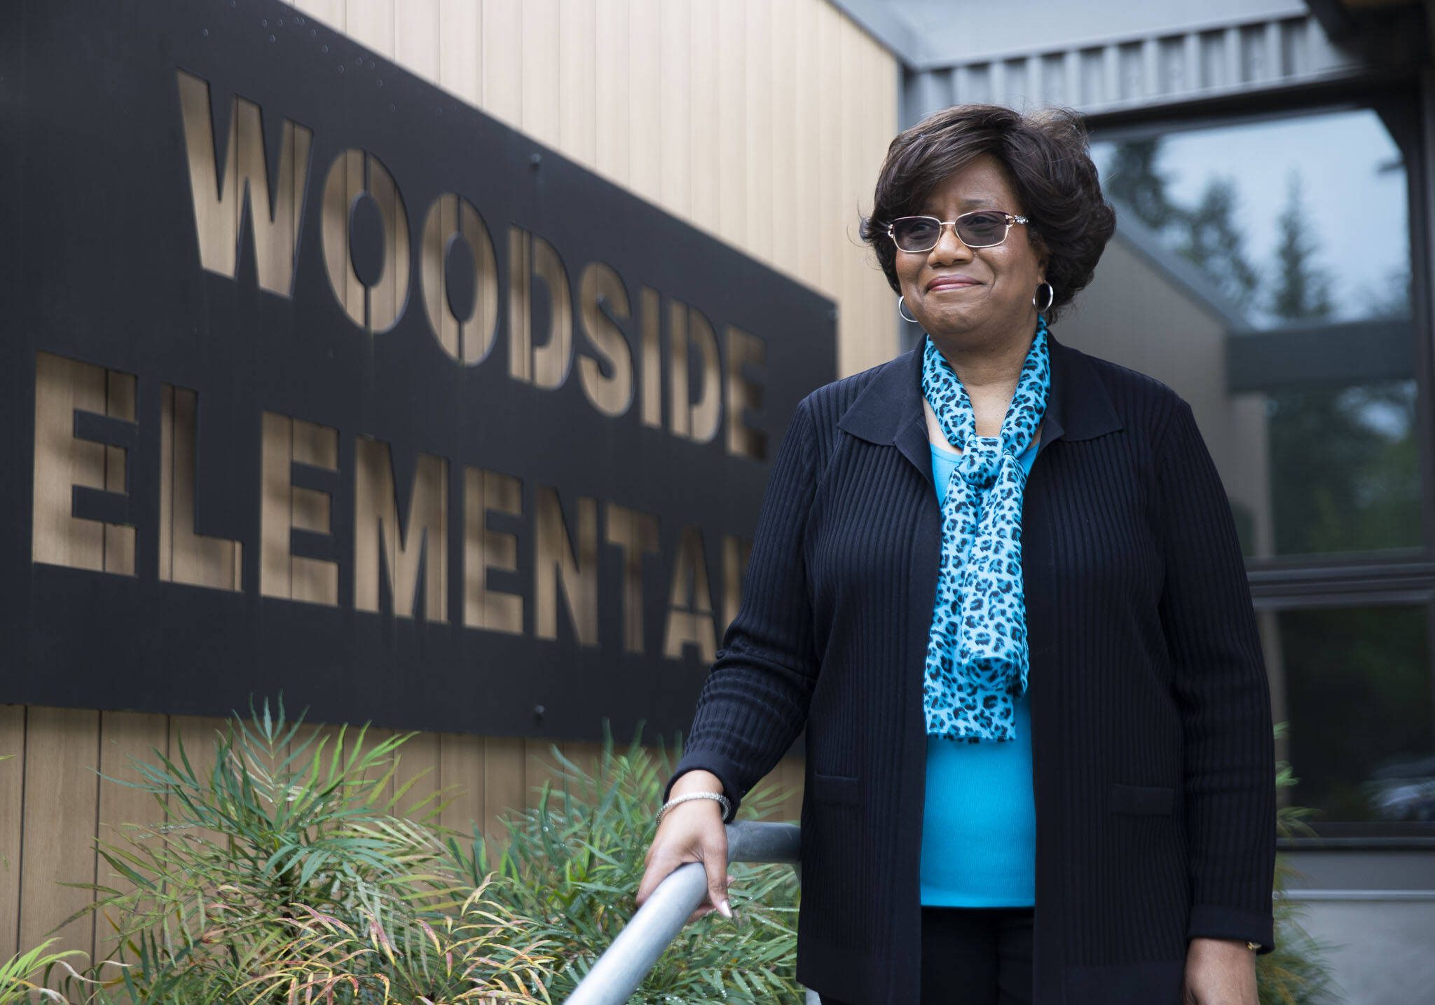
[[971,399],[926,339],[921,392],[947,442],[961,451],[941,507],[941,571],[927,642],[927,732],[980,742],[1015,739],[1013,699],[1026,693],[1020,457],[1046,412],[1046,319],[1022,363],[1000,436],[979,436]]

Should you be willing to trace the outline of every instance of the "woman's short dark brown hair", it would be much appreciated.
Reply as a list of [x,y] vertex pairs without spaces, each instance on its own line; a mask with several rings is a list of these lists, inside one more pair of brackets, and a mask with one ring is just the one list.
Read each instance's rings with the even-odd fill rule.
[[1046,279],[1056,299],[1046,317],[1055,322],[1091,283],[1116,228],[1116,211],[1101,194],[1086,128],[1072,109],[1023,115],[1004,105],[953,105],[897,134],[877,175],[872,215],[861,221],[862,240],[877,253],[893,290],[901,293],[887,224],[920,212],[933,188],[980,154],[1002,162],[1032,221],[1025,227],[1027,240],[1050,256]]

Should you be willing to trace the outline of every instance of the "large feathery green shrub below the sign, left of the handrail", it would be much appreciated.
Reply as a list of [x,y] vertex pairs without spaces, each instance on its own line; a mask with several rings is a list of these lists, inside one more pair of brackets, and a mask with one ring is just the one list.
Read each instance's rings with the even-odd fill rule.
[[[531,926],[489,912],[482,927],[491,904],[471,896],[482,883],[445,867],[433,826],[442,794],[400,811],[416,777],[389,795],[395,751],[412,734],[366,742],[364,728],[324,735],[301,721],[286,722],[283,702],[271,715],[265,702],[215,732],[212,770],[197,771],[181,738],[174,758],[132,761],[139,781],[108,778],[151,793],[161,823],[126,824],[122,841],[99,846],[131,887],[93,886],[90,909],[129,966],[89,1001],[418,1002],[474,989],[541,1001],[547,958]],[[465,956],[451,943],[439,956],[458,948],[462,978],[441,981],[429,938],[453,932],[455,909],[466,926],[456,940],[484,948],[501,938],[505,948]],[[344,932],[377,932],[383,952]]]

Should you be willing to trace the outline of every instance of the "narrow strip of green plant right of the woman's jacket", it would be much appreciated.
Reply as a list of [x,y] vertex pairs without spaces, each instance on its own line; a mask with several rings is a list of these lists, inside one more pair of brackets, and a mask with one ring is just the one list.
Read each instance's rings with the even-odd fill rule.
[[[1286,735],[1286,722],[1276,724],[1276,739]],[[1290,762],[1277,761],[1277,790],[1294,788],[1299,781]],[[1280,807],[1276,811],[1277,837],[1313,834],[1306,820],[1314,813],[1309,807]],[[1325,962],[1325,946],[1300,925],[1306,906],[1287,896],[1290,880],[1300,874],[1287,856],[1276,856],[1276,949],[1256,958],[1260,1005],[1325,1005],[1339,1001],[1332,988],[1330,968]]]

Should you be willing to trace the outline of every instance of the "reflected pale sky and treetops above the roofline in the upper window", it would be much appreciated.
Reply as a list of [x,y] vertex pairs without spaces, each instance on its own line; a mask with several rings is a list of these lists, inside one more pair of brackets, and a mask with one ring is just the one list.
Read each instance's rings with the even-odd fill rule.
[[1122,223],[1251,329],[1409,317],[1405,162],[1368,109],[1096,142]]

